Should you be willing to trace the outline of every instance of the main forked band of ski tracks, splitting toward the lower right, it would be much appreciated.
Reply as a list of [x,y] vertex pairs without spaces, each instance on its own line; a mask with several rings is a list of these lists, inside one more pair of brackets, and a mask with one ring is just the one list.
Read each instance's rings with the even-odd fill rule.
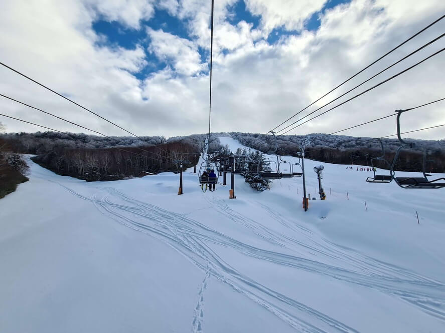
[[[108,194],[101,198],[97,196],[86,198],[68,190],[84,200],[92,201],[101,213],[117,222],[166,242],[203,271],[209,267],[210,274],[217,280],[263,306],[298,331],[356,332],[352,327],[243,275],[224,262],[208,243],[222,245],[259,260],[377,289],[445,320],[444,286],[426,277],[381,262],[375,264],[378,269],[371,265],[368,270],[357,271],[264,250],[224,235],[184,215],[138,201],[112,188],[104,189]],[[110,198],[123,201],[125,204],[116,203]],[[344,248],[338,250],[346,251]],[[368,262],[363,262],[363,266],[367,264]]]

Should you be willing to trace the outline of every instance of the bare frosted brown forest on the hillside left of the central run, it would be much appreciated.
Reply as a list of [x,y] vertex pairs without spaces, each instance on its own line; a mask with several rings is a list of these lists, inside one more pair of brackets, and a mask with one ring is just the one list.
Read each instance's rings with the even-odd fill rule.
[[[5,153],[34,154],[33,161],[60,175],[87,181],[117,180],[147,173],[179,171],[199,160],[206,135],[176,137],[98,137],[37,132],[0,135]],[[210,147],[219,149],[212,138]],[[145,173],[143,173],[145,172]]]

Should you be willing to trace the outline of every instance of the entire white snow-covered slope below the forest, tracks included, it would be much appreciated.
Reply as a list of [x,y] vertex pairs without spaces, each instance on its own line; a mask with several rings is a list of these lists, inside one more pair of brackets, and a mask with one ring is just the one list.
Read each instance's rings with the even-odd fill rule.
[[236,175],[233,200],[230,177],[203,193],[185,172],[177,195],[173,173],[29,164],[0,200],[0,332],[445,332],[443,189],[323,163],[327,200],[305,212],[302,178],[258,193]]

